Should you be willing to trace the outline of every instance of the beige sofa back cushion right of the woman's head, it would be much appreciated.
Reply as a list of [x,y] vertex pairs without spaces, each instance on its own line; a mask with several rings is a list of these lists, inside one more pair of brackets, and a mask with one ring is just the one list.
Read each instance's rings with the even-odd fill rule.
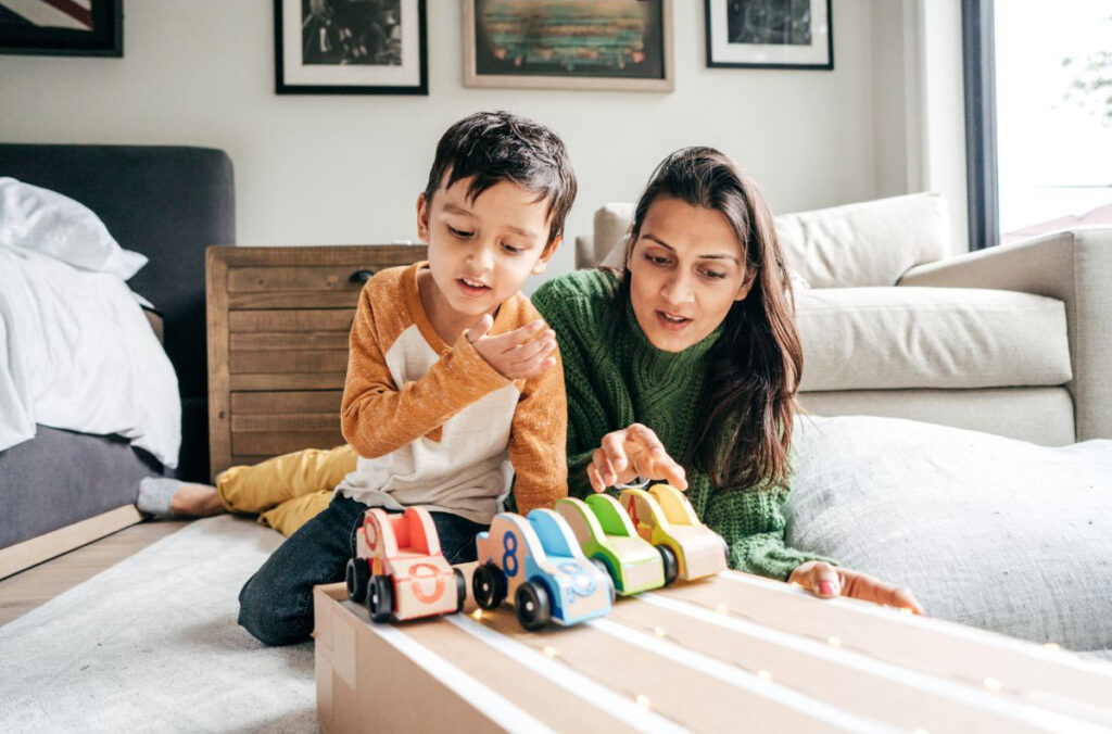
[[776,217],[788,267],[815,288],[894,286],[947,255],[950,218],[937,194],[912,194]]

